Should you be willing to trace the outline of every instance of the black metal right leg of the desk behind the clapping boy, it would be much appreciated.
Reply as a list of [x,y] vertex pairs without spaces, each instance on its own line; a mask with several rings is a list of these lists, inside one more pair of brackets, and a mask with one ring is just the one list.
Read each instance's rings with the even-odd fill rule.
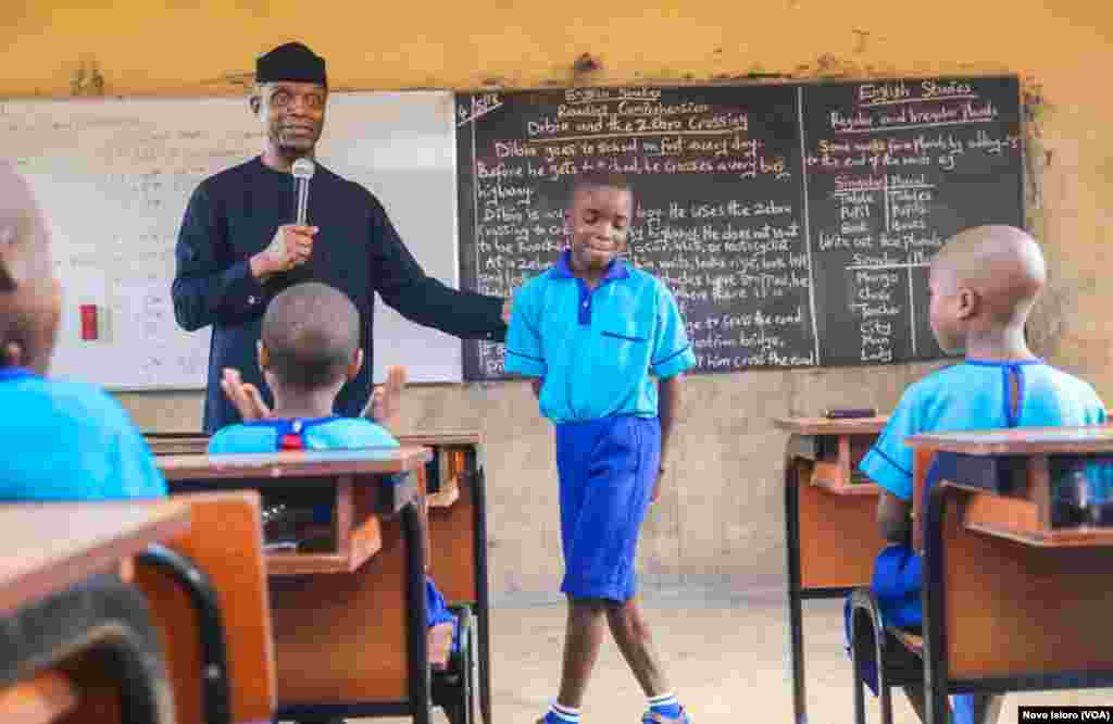
[[406,539],[406,599],[410,606],[410,711],[414,724],[431,724],[432,697],[429,669],[429,620],[425,615],[425,541],[422,516],[413,501],[402,509],[402,530]]

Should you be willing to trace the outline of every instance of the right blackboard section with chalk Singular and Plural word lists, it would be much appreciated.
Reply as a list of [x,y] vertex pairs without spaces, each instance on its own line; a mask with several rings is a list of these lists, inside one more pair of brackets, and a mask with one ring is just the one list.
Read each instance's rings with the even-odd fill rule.
[[[804,90],[801,128],[825,364],[942,356],[930,258],[965,226],[1021,225],[1015,80]],[[841,270],[839,272],[839,270]]]

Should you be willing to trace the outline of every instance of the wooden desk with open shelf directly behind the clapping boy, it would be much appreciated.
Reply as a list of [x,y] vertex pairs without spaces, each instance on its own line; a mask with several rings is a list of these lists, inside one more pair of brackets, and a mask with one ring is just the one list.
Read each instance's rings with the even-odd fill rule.
[[[430,459],[418,447],[157,458],[174,490],[332,491],[336,549],[267,556],[276,718],[411,714],[430,722],[416,481]],[[386,477],[395,473],[405,480]]]

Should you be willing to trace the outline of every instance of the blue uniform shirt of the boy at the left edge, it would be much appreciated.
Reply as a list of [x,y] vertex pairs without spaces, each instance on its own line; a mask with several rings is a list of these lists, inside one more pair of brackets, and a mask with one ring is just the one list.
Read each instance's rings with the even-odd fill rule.
[[104,390],[0,369],[0,501],[160,498],[166,480]]

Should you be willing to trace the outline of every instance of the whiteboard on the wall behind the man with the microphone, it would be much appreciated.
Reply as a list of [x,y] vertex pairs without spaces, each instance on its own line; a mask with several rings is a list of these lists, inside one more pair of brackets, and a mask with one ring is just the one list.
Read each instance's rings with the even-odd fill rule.
[[[205,177],[258,155],[246,98],[6,100],[0,156],[32,185],[65,288],[51,374],[114,390],[203,389],[208,327],[184,332],[170,283],[178,227]],[[456,153],[449,91],[333,94],[318,160],[371,189],[425,272],[459,288]],[[311,186],[312,193],[312,186]],[[81,305],[99,336],[81,340]],[[460,340],[382,300],[375,380],[460,381]]]

